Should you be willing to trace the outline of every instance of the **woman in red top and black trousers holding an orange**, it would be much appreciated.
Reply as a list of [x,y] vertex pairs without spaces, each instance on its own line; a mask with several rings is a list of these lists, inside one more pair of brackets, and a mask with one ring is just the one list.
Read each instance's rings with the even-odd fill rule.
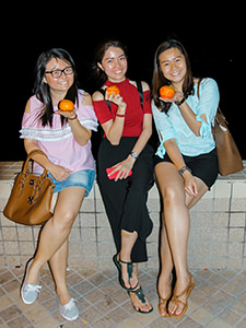
[[[98,48],[95,71],[102,90],[93,94],[93,105],[104,138],[97,155],[97,181],[117,249],[114,262],[121,285],[136,311],[150,313],[153,308],[140,288],[138,263],[148,260],[145,241],[152,231],[147,208],[153,185],[152,148],[148,144],[152,110],[149,85],[141,82],[137,86],[126,77],[127,69],[126,47],[120,42]],[[109,95],[107,87],[113,85],[119,94]]]

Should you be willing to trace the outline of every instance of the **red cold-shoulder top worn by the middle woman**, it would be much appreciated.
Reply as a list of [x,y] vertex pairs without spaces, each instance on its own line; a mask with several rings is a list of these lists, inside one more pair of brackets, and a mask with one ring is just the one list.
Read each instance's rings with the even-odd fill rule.
[[[137,87],[129,82],[129,79],[115,83],[106,81],[106,86],[116,85],[120,91],[120,96],[127,104],[122,137],[139,137],[142,132],[144,114],[152,114],[150,90],[143,92],[143,107],[141,106],[140,95]],[[101,125],[108,120],[115,120],[118,106],[110,103],[108,108],[106,101],[93,102],[93,106]]]

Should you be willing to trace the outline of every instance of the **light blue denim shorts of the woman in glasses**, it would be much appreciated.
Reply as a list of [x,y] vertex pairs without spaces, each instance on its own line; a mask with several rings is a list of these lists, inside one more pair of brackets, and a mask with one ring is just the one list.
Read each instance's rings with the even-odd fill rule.
[[70,187],[82,187],[86,190],[85,197],[87,197],[93,187],[95,171],[83,169],[71,173],[65,181],[56,180],[49,173],[48,176],[51,177],[55,184],[54,194]]

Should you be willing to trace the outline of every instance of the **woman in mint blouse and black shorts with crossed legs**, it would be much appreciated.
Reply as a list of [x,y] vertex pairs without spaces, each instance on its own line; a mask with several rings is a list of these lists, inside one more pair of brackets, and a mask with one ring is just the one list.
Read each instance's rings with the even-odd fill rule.
[[[172,99],[160,97],[163,85],[175,90]],[[187,263],[189,209],[218,177],[211,128],[218,105],[216,82],[192,77],[184,46],[177,40],[161,44],[154,59],[152,112],[160,139],[154,171],[164,204],[157,284],[163,317],[180,318],[195,286]],[[177,278],[174,291],[173,269]]]

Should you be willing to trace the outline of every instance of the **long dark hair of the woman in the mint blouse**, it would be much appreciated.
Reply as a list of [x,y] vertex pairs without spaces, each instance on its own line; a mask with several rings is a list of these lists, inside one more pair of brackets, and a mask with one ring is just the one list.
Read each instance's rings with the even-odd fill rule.
[[161,110],[167,113],[172,103],[165,103],[162,102],[160,97],[160,87],[163,85],[169,85],[171,81],[167,80],[160,67],[160,55],[163,54],[164,51],[172,49],[172,48],[177,48],[180,50],[180,52],[185,56],[185,61],[186,61],[186,67],[187,67],[187,72],[185,77],[185,81],[183,84],[183,93],[185,98],[187,98],[190,94],[194,94],[194,78],[192,78],[192,72],[191,72],[191,67],[190,67],[190,61],[188,54],[183,46],[181,43],[175,39],[166,40],[162,43],[159,47],[157,50],[155,51],[154,56],[154,72],[153,72],[153,80],[152,80],[152,86],[153,86],[153,99],[155,103],[155,106]]

